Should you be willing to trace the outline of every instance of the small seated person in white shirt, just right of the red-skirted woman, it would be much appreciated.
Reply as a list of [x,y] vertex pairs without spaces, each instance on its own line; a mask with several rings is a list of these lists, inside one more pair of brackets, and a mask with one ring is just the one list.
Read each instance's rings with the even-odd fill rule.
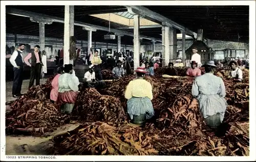
[[89,70],[84,74],[83,88],[102,88],[103,86],[103,80],[96,80],[94,66],[90,65]]

